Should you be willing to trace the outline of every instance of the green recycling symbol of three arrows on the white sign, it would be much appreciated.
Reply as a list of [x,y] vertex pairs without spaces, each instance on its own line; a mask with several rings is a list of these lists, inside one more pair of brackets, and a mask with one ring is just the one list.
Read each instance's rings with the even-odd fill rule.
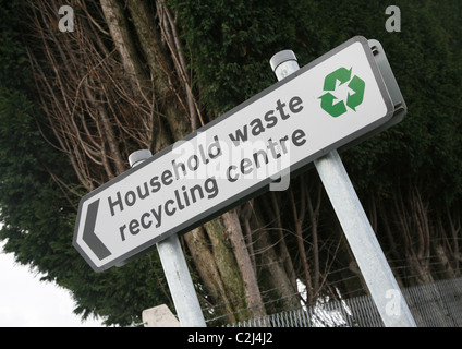
[[364,87],[366,86],[366,83],[356,75],[351,77],[352,69],[353,68],[339,68],[338,70],[328,74],[324,80],[324,91],[335,91],[337,81],[339,81],[340,85],[350,82],[348,84],[348,87],[350,87],[350,89],[354,92],[353,94],[350,94],[350,92],[348,93],[346,106],[343,100],[333,104],[333,100],[338,98],[333,96],[330,92],[319,97],[320,107],[333,118],[340,117],[342,113],[345,113],[346,107],[356,111],[356,107],[363,103]]

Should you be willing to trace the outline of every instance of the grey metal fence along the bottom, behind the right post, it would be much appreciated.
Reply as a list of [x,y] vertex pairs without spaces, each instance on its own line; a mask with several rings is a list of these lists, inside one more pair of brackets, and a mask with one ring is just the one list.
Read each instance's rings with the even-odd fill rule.
[[[462,277],[402,289],[418,327],[462,327]],[[236,327],[382,327],[370,296],[340,301],[318,300],[265,317],[231,324]]]

